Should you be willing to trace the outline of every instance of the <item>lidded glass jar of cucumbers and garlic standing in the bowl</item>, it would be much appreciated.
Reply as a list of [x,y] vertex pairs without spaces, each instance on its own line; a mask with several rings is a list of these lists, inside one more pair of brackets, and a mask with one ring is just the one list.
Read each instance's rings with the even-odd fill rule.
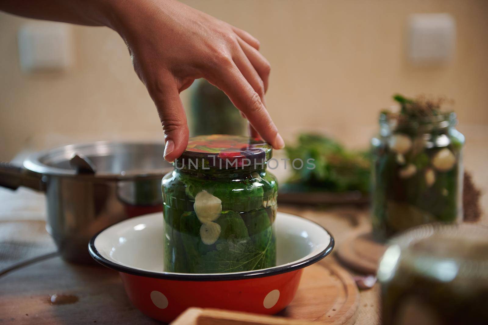
[[278,183],[269,144],[243,136],[190,138],[163,178],[164,270],[224,273],[276,265]]

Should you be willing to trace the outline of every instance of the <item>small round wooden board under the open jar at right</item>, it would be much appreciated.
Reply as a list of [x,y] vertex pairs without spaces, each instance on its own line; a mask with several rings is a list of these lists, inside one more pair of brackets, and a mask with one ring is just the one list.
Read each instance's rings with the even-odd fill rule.
[[337,257],[348,267],[365,274],[376,274],[386,246],[373,239],[370,230],[351,234],[338,248]]

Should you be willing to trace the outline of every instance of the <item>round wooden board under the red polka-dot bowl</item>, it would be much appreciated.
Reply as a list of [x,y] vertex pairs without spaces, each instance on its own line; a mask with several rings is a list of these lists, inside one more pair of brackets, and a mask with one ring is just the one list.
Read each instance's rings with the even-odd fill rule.
[[358,306],[359,291],[351,275],[337,264],[324,262],[305,267],[295,298],[277,316],[351,325]]

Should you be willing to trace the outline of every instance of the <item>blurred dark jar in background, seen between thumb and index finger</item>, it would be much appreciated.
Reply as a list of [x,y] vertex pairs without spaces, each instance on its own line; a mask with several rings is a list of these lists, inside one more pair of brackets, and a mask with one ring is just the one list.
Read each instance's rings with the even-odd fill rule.
[[204,79],[196,80],[190,90],[190,136],[247,134],[247,120],[222,90]]

